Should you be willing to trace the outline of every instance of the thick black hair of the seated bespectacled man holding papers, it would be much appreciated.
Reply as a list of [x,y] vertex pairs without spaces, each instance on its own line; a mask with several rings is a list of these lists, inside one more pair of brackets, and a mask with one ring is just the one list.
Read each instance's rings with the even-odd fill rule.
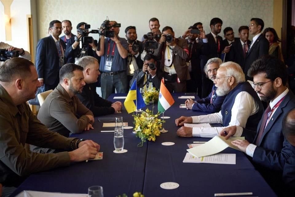
[[263,55],[251,64],[248,76],[253,77],[259,73],[265,73],[266,78],[270,80],[275,80],[277,77],[281,78],[284,86],[288,80],[287,68],[284,62],[273,55]]

